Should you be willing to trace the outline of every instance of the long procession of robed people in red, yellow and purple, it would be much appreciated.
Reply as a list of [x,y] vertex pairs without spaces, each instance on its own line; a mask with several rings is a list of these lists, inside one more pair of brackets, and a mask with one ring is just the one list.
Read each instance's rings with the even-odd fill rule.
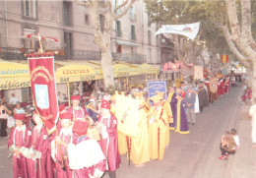
[[[18,105],[14,111],[15,127],[8,141],[14,178],[82,178],[104,174],[116,177],[120,154],[127,153],[127,161],[138,167],[161,160],[169,145],[169,133],[189,134],[189,128],[196,124],[197,113],[229,90],[227,77],[184,82],[179,88],[173,83],[166,91],[157,90],[151,97],[147,97],[145,89],[137,89],[132,95],[122,92],[139,101],[135,137],[117,129],[118,93],[110,95],[107,91],[103,95],[94,90],[84,106],[80,95],[71,96],[70,107],[59,103],[56,130],[50,135],[36,110],[32,113],[34,126],[26,126],[26,113],[20,112]],[[3,104],[1,107],[1,112],[9,112]],[[121,122],[125,117],[124,114]]]

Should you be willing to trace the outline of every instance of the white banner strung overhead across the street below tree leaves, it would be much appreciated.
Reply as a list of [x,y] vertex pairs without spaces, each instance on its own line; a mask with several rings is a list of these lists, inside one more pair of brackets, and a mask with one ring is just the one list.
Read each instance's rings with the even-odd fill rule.
[[156,32],[156,35],[160,33],[173,33],[185,35],[188,38],[194,40],[200,28],[200,22],[186,25],[164,25]]

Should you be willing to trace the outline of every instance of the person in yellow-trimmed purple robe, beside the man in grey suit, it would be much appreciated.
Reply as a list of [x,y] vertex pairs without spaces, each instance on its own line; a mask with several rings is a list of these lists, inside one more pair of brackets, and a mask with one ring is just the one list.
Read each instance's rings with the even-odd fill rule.
[[180,134],[189,134],[189,127],[186,114],[186,103],[183,101],[183,97],[180,94],[176,95],[177,99],[177,122],[175,126],[175,132]]

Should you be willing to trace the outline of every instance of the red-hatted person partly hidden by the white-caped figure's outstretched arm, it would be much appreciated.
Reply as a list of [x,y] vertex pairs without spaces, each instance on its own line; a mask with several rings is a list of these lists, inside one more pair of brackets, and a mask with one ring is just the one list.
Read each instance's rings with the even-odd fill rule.
[[[59,118],[61,120],[62,129],[59,132],[59,139],[66,144],[72,143],[73,132],[71,126],[71,120],[73,115],[68,112],[60,113]],[[67,149],[61,145],[56,146],[55,141],[51,143],[51,156],[53,157],[56,165],[56,177],[57,178],[71,178],[72,171],[69,167],[69,160],[67,155]]]

